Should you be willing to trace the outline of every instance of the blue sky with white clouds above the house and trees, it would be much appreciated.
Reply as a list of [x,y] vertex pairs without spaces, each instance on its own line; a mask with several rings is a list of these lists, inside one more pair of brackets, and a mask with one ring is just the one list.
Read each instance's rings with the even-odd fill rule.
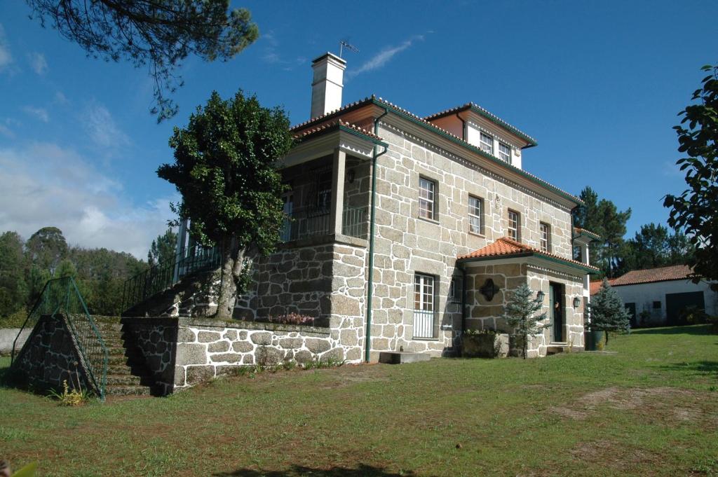
[[347,53],[343,102],[376,94],[418,115],[474,101],[538,140],[524,169],[666,223],[684,189],[671,127],[718,62],[714,1],[243,1],[261,37],[230,62],[189,59],[157,125],[144,69],[85,57],[0,3],[0,232],[55,225],[70,243],[144,257],[171,218],[167,140],[212,90],[238,88],[306,121],[312,58]]

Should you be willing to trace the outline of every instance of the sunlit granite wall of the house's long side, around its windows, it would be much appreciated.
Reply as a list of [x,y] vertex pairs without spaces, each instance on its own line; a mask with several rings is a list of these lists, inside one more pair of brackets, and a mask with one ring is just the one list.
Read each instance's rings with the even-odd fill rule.
[[[372,359],[379,351],[421,351],[434,356],[454,351],[461,310],[449,298],[457,255],[508,234],[508,209],[521,214],[521,241],[538,247],[539,222],[551,225],[551,250],[572,257],[571,211],[466,159],[404,130],[388,116],[378,135],[390,146],[378,158]],[[419,218],[419,179],[435,182],[434,220]],[[484,204],[480,234],[469,232],[468,199]],[[434,339],[414,337],[414,275],[433,275],[437,285]],[[509,270],[507,278],[519,278]],[[526,273],[523,273],[526,282]],[[518,283],[518,280],[515,280]],[[513,285],[513,283],[512,283]],[[471,287],[467,287],[471,289]],[[491,315],[495,316],[495,315]],[[478,318],[478,317],[477,317]],[[486,315],[485,318],[489,318]]]

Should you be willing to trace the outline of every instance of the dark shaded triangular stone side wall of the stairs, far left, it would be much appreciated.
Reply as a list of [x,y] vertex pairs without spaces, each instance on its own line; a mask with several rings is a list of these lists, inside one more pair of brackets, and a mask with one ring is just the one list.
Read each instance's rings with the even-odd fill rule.
[[70,389],[75,389],[79,380],[82,389],[93,389],[75,339],[62,315],[39,318],[13,368],[33,387],[62,389],[62,382],[67,381]]

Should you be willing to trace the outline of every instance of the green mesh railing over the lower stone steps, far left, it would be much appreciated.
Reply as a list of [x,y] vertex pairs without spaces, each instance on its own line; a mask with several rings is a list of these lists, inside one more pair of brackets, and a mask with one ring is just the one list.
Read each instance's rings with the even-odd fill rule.
[[[45,283],[45,288],[13,341],[11,364],[15,364],[17,355],[22,351],[17,349],[17,340],[22,331],[34,329],[42,316],[64,316],[67,319],[90,385],[104,399],[109,358],[107,347],[72,277],[55,278]],[[25,346],[29,346],[29,340]]]

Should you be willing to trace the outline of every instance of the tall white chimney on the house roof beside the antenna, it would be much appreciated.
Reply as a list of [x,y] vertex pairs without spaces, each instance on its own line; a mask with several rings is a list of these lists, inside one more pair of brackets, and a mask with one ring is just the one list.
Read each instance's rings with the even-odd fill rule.
[[312,115],[309,119],[342,107],[344,70],[347,62],[337,55],[325,53],[312,61]]

